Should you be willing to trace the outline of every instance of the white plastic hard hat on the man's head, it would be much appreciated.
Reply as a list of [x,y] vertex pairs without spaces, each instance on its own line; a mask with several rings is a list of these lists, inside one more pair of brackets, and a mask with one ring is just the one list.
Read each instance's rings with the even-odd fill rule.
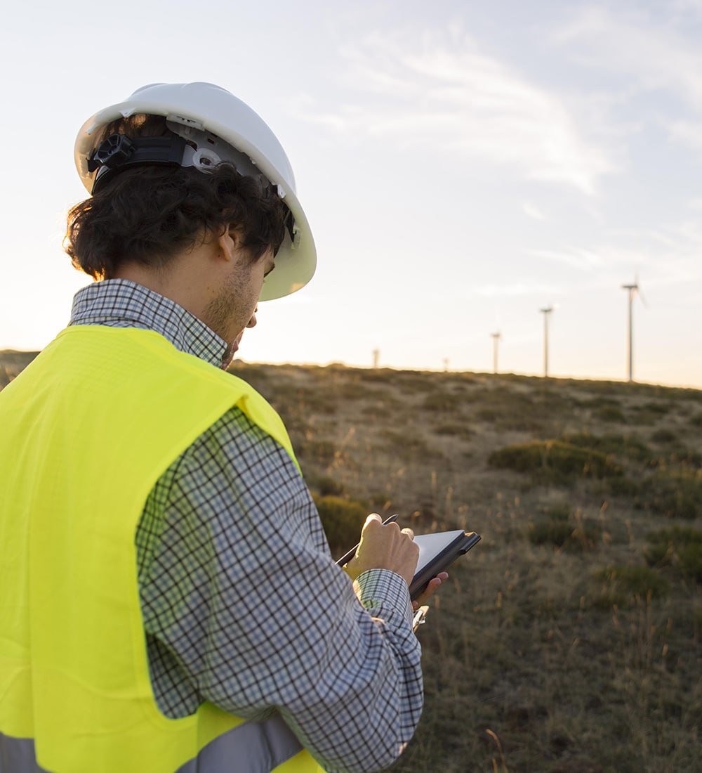
[[171,131],[188,140],[183,158],[178,161],[181,165],[206,170],[219,161],[227,161],[242,175],[263,174],[277,186],[294,224],[276,255],[276,270],[266,277],[261,301],[290,295],[310,281],[317,266],[317,250],[310,224],[297,200],[287,155],[258,114],[212,83],[153,83],[90,117],[80,128],[75,147],[76,168],[88,192],[93,191],[97,176],[96,166],[90,160],[97,143],[104,139],[100,130],[112,121],[134,114],[163,115]]

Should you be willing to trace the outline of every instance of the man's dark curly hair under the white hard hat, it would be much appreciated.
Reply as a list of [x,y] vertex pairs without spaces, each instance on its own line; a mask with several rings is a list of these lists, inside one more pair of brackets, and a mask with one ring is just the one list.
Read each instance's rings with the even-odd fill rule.
[[[101,138],[170,135],[161,116],[131,116],[105,127]],[[100,139],[101,139],[100,138]],[[99,140],[100,141],[100,140]],[[95,194],[68,213],[64,249],[94,279],[113,278],[122,261],[160,268],[178,251],[228,227],[240,230],[252,261],[285,236],[287,206],[265,181],[221,163],[192,167],[133,166],[113,172]]]

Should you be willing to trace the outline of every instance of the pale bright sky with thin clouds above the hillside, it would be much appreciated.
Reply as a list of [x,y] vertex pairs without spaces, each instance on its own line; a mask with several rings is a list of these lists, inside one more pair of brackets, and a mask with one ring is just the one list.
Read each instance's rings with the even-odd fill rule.
[[[273,129],[317,243],[249,362],[702,388],[702,0],[83,0],[0,30],[0,349],[90,279],[63,253],[83,121],[209,81]],[[374,352],[377,352],[375,354]]]

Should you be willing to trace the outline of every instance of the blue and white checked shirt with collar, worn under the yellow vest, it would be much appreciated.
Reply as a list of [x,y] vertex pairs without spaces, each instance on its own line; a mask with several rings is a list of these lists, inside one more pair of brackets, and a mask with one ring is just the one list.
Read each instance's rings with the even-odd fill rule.
[[[226,342],[174,301],[110,280],[79,291],[71,325],[154,330],[221,366]],[[290,456],[232,407],[154,485],[136,534],[159,709],[205,700],[261,720],[279,710],[330,771],[385,767],[422,710],[407,586],[355,584],[331,559]]]

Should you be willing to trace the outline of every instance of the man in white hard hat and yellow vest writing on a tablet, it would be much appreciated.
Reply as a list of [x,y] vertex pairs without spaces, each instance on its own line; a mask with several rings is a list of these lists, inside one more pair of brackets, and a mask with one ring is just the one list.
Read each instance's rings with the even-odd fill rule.
[[66,251],[99,281],[0,393],[0,773],[387,766],[422,708],[412,532],[369,516],[339,569],[280,418],[222,370],[314,274],[283,148],[161,83],[76,165]]

